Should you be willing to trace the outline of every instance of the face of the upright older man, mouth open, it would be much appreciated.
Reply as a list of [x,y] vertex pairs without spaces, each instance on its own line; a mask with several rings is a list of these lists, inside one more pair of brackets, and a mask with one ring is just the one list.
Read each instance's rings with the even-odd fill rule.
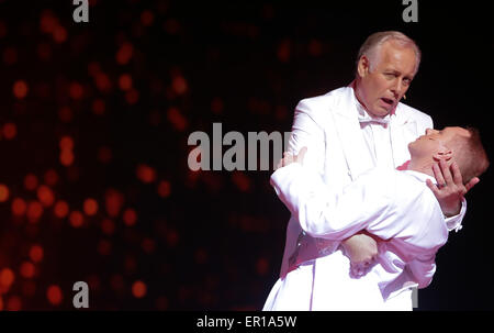
[[359,62],[361,101],[373,116],[390,114],[408,90],[415,76],[416,57],[412,47],[388,41],[378,49],[374,63]]

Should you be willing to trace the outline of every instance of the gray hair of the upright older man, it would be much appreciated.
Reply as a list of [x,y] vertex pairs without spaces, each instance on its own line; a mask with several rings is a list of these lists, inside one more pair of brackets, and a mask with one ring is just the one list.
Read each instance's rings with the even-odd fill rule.
[[[388,41],[395,41],[403,47],[411,47],[415,53],[415,73],[418,70],[418,65],[420,64],[422,52],[417,44],[406,36],[404,33],[398,31],[383,31],[371,34],[360,46],[359,53],[357,55],[357,66],[362,56],[369,58],[370,63],[373,63],[378,58],[378,51]],[[374,62],[373,65],[375,65]],[[371,64],[371,66],[373,66]]]

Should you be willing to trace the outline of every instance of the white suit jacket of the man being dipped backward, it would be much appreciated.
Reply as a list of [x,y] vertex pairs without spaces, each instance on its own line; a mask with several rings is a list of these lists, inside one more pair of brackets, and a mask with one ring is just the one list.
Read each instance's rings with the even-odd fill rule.
[[[335,191],[297,163],[272,175],[271,184],[278,196],[307,234],[345,240],[367,230],[385,240],[380,242],[377,265],[359,279],[345,277],[348,275],[345,262],[343,267],[326,265],[333,270],[316,273],[319,278],[313,282],[311,309],[380,310],[388,298],[404,289],[425,288],[430,284],[436,271],[435,256],[446,243],[448,230],[426,179],[435,180],[412,170],[373,168],[345,189]],[[290,279],[291,275],[288,275]],[[285,302],[283,292],[287,290],[280,291],[277,286],[268,307],[279,307],[279,299]]]

